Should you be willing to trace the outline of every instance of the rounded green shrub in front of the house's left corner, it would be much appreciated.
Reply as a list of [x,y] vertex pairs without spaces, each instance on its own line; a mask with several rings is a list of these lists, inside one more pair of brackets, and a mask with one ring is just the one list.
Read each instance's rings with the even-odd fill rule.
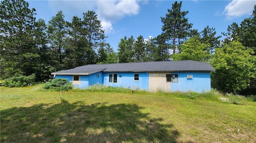
[[42,90],[46,91],[68,91],[72,90],[74,86],[72,82],[65,78],[56,78],[46,82],[42,86]]

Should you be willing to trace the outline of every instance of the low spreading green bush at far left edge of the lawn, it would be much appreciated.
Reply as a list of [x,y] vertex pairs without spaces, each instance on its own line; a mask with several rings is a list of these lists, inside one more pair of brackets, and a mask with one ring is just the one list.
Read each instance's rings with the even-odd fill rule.
[[36,74],[31,74],[29,76],[24,76],[22,74],[16,73],[14,76],[10,78],[6,78],[2,86],[6,87],[24,87],[32,84],[36,79]]

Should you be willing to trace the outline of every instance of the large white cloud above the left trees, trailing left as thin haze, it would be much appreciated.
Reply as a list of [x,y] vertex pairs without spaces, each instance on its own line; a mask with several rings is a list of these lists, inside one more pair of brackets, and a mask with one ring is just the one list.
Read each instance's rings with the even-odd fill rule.
[[[72,16],[82,16],[88,10],[95,11],[98,15],[98,20],[101,21],[105,33],[114,31],[112,23],[121,20],[125,16],[136,15],[140,11],[139,1],[137,0],[62,0],[48,1],[48,5],[52,8],[53,13],[62,10],[67,19],[72,19]],[[80,17],[82,18],[82,17]]]

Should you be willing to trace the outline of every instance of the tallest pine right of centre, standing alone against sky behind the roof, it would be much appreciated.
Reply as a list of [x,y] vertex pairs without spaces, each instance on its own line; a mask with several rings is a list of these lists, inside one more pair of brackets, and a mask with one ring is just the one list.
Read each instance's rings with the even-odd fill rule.
[[188,11],[181,11],[182,2],[177,1],[172,4],[172,9],[168,9],[166,17],[161,17],[162,36],[168,48],[172,49],[172,53],[180,52],[180,45],[190,35],[191,23],[188,23],[188,18],[185,18]]

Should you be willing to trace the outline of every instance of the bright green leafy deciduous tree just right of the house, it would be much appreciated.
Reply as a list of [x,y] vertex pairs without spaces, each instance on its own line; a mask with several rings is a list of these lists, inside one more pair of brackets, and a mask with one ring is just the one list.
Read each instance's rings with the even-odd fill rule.
[[250,78],[255,76],[255,57],[252,53],[252,49],[246,49],[238,39],[216,49],[210,61],[216,69],[212,72],[212,87],[223,92],[246,89]]

